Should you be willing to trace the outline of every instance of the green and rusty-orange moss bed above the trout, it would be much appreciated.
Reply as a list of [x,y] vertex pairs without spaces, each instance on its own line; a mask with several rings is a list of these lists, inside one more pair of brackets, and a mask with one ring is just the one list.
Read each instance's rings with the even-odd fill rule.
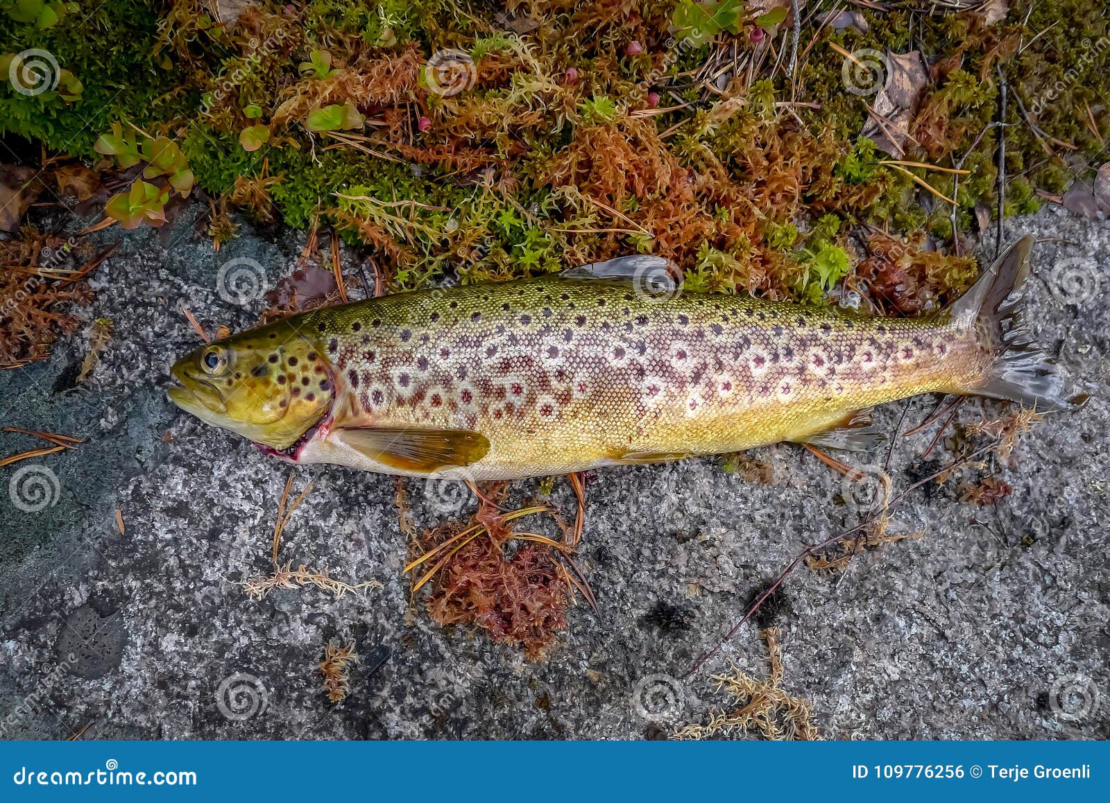
[[[692,11],[685,0],[680,6]],[[707,92],[700,78],[712,59],[714,70],[727,65],[719,42],[683,42],[663,58],[674,37],[675,8],[622,6],[610,17],[592,20],[573,3],[556,3],[539,18],[537,31],[521,39],[504,30],[492,6],[464,9],[451,0],[311,0],[300,13],[264,6],[251,12],[258,14],[249,22],[251,33],[242,26],[225,30],[198,0],[107,0],[88,18],[62,13],[48,27],[6,19],[0,55],[47,50],[60,70],[80,81],[81,91],[69,92],[67,100],[59,92],[28,96],[0,84],[0,133],[94,157],[93,143],[113,123],[131,122],[152,135],[183,132],[189,167],[208,192],[228,195],[240,179],[270,179],[270,202],[286,223],[334,225],[351,242],[392,248],[394,283],[418,286],[447,271],[464,281],[492,281],[555,270],[572,258],[567,255],[656,251],[669,232],[653,235],[608,220],[549,186],[588,126],[632,130],[644,119],[647,91],[655,90],[662,105],[690,103],[647,118],[666,136],[657,145],[665,153],[645,154],[665,163],[652,167],[652,175],[667,176],[672,187],[683,171],[698,185],[696,201],[703,205],[675,218],[683,223],[687,212],[702,215],[702,226],[692,231],[705,242],[683,245],[688,286],[735,291],[760,285],[813,301],[841,273],[837,227],[866,222],[894,232],[952,234],[949,204],[881,165],[886,154],[859,138],[874,96],[846,91],[845,59],[837,48],[917,48],[937,67],[936,84],[920,99],[919,122],[927,118],[924,130],[916,131],[920,141],[908,143],[906,157],[940,166],[962,160],[969,173],[958,183],[951,174],[909,167],[941,195],[955,196],[961,230],[973,226],[977,204],[997,204],[998,130],[989,125],[998,113],[999,67],[1010,98],[1007,214],[1035,210],[1038,189],[1062,192],[1077,170],[1093,166],[1088,163],[1103,148],[1097,129],[1106,130],[1110,114],[1101,98],[1110,74],[1110,39],[1098,4],[1011,2],[1007,20],[989,28],[970,13],[864,8],[866,34],[851,28],[807,29],[807,47],[791,80],[784,78],[783,64],[774,79],[766,78],[775,62],[769,58],[759,62],[764,67],[746,89],[738,88],[747,80],[741,69],[725,98]],[[735,47],[741,67],[757,47],[747,35],[751,24],[741,16],[726,26],[739,31],[735,45],[727,47]],[[248,37],[259,30],[263,38],[278,31],[287,38],[280,47],[252,47]],[[627,53],[632,39],[645,45],[644,52]],[[381,145],[408,149],[400,156],[335,148],[335,141],[305,130],[307,114],[345,109],[343,98],[330,96],[286,123],[273,122],[281,102],[297,93],[314,96],[312,82],[329,80],[337,67],[400,59],[410,48],[425,58],[443,48],[461,49],[484,79],[458,95],[407,88],[395,103],[363,104],[360,111],[377,122],[391,112],[394,121],[400,115],[392,129],[400,141]],[[514,59],[516,67],[503,67]],[[304,62],[312,67],[302,74]],[[565,78],[568,68],[577,72],[576,83]],[[563,89],[553,89],[556,84]],[[788,113],[784,102],[790,102]],[[414,134],[424,116],[432,130]],[[464,116],[470,130],[460,131],[456,121]],[[1043,133],[1035,133],[1030,121]],[[253,152],[240,144],[248,126],[270,132]],[[810,139],[799,131],[813,132]],[[453,164],[456,153],[428,156],[421,166],[405,162],[413,150],[428,149],[427,155],[436,146],[471,149],[492,160],[473,169]],[[807,149],[820,149],[819,157]],[[648,189],[609,200],[620,215],[638,221],[666,194]],[[749,197],[756,199],[753,207],[737,203]],[[398,215],[400,206],[383,202],[410,205]],[[803,238],[796,226],[803,221],[793,218],[807,214],[816,221]],[[623,231],[608,233],[617,228]],[[375,242],[379,236],[390,242]],[[754,274],[753,260],[777,273]]]

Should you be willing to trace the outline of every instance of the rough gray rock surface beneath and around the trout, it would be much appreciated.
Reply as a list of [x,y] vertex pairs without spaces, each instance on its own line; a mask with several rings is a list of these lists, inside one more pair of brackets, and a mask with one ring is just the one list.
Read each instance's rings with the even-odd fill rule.
[[[854,488],[789,445],[753,455],[773,468],[770,484],[729,475],[717,459],[598,472],[579,562],[601,617],[572,609],[569,631],[528,662],[410,603],[392,478],[300,467],[294,490],[314,486],[283,557],[382,587],[253,602],[241,582],[269,571],[289,468],[178,413],[164,384],[198,342],[183,307],[212,331],[250,325],[265,306],[221,294],[221,265],[254,260],[272,286],[303,235],[273,242],[244,227],[216,254],[193,222],[179,221],[167,244],[150,230],[97,235],[120,248],[81,314],[110,318],[114,337],[87,383],[74,383],[81,333],[48,360],[0,373],[0,424],[87,439],[0,469],[3,735],[58,739],[88,726],[85,739],[644,738],[727,704],[713,673],[735,664],[763,677],[758,629],[775,624],[784,687],[811,702],[830,738],[1110,736],[1104,225],[1059,210],[1008,222],[1010,236],[1046,238],[1035,250],[1033,327],[1092,394],[1081,413],[1025,434],[1012,467],[991,458],[962,476],[997,476],[1013,494],[976,507],[960,501],[961,478],[909,492],[890,530],[922,538],[862,552],[845,572],[799,569],[758,623],[679,680],[800,549],[858,521]],[[911,403],[906,428],[935,403]],[[960,418],[1001,409],[971,399]],[[894,430],[901,411],[888,406],[879,420]],[[896,494],[939,467],[921,460],[935,430],[898,439]],[[0,455],[37,445],[0,434]],[[931,457],[950,454],[941,444]],[[428,526],[436,514],[424,486],[407,484]],[[534,481],[518,485],[517,500],[536,492]],[[565,481],[553,502],[573,512]],[[316,671],[333,639],[361,659],[336,705]]]

